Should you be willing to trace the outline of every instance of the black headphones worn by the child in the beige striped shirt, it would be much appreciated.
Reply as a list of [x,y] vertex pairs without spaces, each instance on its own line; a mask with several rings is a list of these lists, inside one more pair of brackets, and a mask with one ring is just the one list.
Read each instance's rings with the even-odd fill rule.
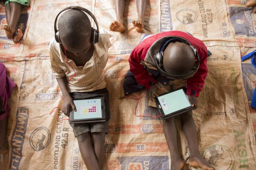
[[68,9],[75,9],[75,10],[84,11],[85,13],[89,14],[89,15],[93,18],[94,22],[96,23],[97,29],[94,29],[94,28],[92,27],[92,34],[91,34],[90,42],[91,42],[91,43],[94,43],[94,44],[96,44],[97,42],[99,42],[99,25],[98,25],[98,22],[97,22],[96,18],[94,17],[94,15],[93,15],[89,10],[87,10],[87,9],[85,9],[85,8],[82,8],[82,7],[80,7],[80,6],[70,6],[70,7],[67,7],[67,8],[62,9],[62,10],[58,13],[58,15],[57,15],[56,18],[55,18],[55,22],[54,22],[55,40],[56,40],[58,43],[61,44],[61,39],[60,39],[60,36],[59,36],[59,32],[58,32],[58,30],[57,30],[57,24],[56,24],[56,23],[57,23],[58,16],[59,16],[63,11],[66,11],[66,10],[68,10]]

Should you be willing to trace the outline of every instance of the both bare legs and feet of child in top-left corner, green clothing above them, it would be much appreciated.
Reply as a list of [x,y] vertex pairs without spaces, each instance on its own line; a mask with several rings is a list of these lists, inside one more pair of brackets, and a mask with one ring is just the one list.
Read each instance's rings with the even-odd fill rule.
[[16,44],[23,36],[21,29],[17,29],[21,7],[29,6],[29,0],[0,0],[0,2],[5,6],[6,11],[7,25],[3,26],[3,29],[6,32],[6,37],[12,39]]

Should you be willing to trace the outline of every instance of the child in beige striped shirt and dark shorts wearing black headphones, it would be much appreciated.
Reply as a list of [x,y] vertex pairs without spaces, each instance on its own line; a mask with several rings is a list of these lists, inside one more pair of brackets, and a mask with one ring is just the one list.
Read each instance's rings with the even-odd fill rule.
[[[97,29],[91,27],[87,14],[93,18]],[[103,74],[111,46],[109,35],[99,34],[96,18],[90,11],[78,6],[60,11],[54,29],[55,39],[50,42],[49,56],[52,74],[63,95],[64,114],[69,116],[70,110],[76,111],[74,99],[104,98],[106,122],[70,123],[87,169],[102,170],[105,134],[108,133],[110,119],[108,90]]]

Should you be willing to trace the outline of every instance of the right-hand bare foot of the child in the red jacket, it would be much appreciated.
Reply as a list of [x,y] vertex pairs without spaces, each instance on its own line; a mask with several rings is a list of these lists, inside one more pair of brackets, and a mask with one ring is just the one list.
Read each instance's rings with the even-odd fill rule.
[[201,155],[190,157],[189,165],[202,168],[203,170],[215,170]]

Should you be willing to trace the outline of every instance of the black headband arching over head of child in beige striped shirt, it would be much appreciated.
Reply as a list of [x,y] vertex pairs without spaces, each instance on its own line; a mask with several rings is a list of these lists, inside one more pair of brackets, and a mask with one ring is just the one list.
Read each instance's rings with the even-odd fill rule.
[[[54,32],[55,32],[55,37],[56,37],[56,35],[58,34],[58,30],[57,30],[57,20],[58,20],[58,16],[63,12],[63,11],[66,11],[66,10],[69,10],[69,9],[76,9],[76,10],[80,10],[80,11],[84,11],[85,13],[87,13],[88,15],[90,15],[90,17],[92,17],[93,18],[93,20],[94,20],[94,23],[96,23],[96,27],[97,27],[97,37],[96,37],[96,42],[99,42],[99,25],[98,25],[98,22],[97,22],[97,20],[96,20],[96,18],[94,17],[94,15],[93,15],[93,13],[91,13],[88,9],[86,9],[86,8],[82,8],[81,6],[70,6],[70,7],[67,7],[67,8],[64,8],[64,9],[62,9],[59,13],[58,13],[58,15],[56,16],[56,18],[55,18],[55,22],[54,22]],[[95,35],[95,34],[93,34],[93,35]],[[59,37],[58,37],[58,39],[59,39]],[[93,37],[93,39],[94,39],[94,37]],[[59,41],[60,41],[60,39],[59,39]],[[95,43],[95,42],[94,42]]]

